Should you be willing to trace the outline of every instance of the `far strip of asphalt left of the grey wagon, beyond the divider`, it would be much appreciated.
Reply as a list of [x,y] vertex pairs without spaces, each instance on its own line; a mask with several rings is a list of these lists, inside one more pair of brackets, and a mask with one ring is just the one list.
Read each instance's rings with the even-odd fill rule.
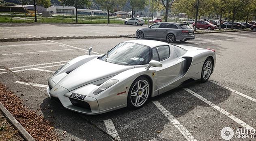
[[106,24],[0,24],[0,39],[49,36],[95,36],[135,34],[143,26]]

